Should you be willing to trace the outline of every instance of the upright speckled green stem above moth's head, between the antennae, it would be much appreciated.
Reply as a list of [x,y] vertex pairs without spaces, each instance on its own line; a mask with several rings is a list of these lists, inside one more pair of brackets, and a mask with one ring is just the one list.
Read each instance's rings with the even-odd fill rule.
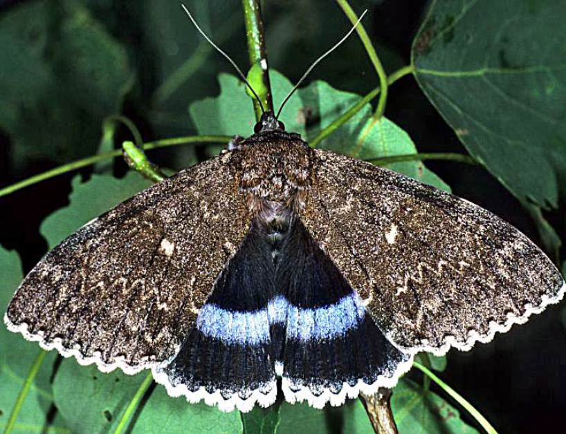
[[[241,0],[244,5],[244,17],[246,19],[246,38],[248,40],[248,57],[250,68],[254,65],[261,71],[261,79],[265,93],[260,96],[266,111],[273,111],[273,97],[271,85],[269,84],[269,69],[267,63],[267,49],[264,38],[264,21],[262,17],[262,6],[260,0]],[[259,121],[262,117],[262,108],[259,102],[253,102],[255,119]]]

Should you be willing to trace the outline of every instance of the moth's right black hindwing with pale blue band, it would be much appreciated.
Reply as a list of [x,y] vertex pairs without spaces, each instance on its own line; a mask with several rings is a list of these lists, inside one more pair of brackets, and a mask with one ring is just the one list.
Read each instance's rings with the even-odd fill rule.
[[286,319],[276,314],[270,319],[272,330],[284,328],[275,359],[289,402],[341,405],[360,390],[373,395],[379,387],[393,387],[410,369],[412,357],[385,338],[300,220],[282,247],[275,281],[280,295],[271,300],[271,311],[284,305]]

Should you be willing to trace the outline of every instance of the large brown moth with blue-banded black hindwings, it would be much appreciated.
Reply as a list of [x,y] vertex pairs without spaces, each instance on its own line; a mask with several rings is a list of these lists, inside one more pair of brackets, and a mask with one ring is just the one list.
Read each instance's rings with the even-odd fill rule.
[[36,265],[4,321],[42,348],[223,411],[322,408],[393,387],[562,299],[560,272],[489,211],[255,133],[122,202]]

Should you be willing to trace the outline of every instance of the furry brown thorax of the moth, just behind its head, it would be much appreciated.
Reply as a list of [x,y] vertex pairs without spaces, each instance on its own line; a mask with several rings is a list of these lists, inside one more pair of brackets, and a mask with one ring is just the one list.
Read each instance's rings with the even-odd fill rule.
[[[312,184],[313,150],[300,135],[268,131],[252,135],[232,151],[239,191],[249,195],[257,216],[275,209],[298,211],[304,207],[304,191]],[[281,208],[273,204],[281,205]]]

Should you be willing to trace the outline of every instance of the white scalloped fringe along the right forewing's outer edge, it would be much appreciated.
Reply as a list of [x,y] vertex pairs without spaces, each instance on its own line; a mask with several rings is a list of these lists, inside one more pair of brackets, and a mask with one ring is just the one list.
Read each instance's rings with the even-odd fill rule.
[[448,352],[448,350],[450,350],[450,348],[456,348],[457,350],[461,351],[469,351],[472,349],[476,342],[491,342],[497,332],[509,332],[513,325],[526,323],[531,315],[540,314],[549,305],[559,303],[563,299],[565,294],[566,283],[563,281],[562,286],[560,287],[558,292],[556,292],[556,294],[552,296],[542,294],[542,296],[540,297],[542,303],[540,303],[540,305],[533,306],[531,305],[531,303],[524,305],[524,314],[520,316],[515,314],[508,314],[506,321],[502,324],[491,321],[491,323],[489,323],[489,330],[485,334],[480,334],[476,330],[470,330],[470,332],[468,332],[468,338],[466,339],[466,341],[457,341],[455,337],[446,335],[444,337],[444,344],[439,347],[428,345],[428,341],[426,339],[423,339],[421,345],[405,347],[396,343],[395,339],[389,332],[385,332],[383,330],[382,331],[384,332],[385,337],[393,344],[393,346],[395,346],[398,350],[404,352],[405,354],[416,355],[418,352],[432,352],[432,354],[435,356],[444,356]]

